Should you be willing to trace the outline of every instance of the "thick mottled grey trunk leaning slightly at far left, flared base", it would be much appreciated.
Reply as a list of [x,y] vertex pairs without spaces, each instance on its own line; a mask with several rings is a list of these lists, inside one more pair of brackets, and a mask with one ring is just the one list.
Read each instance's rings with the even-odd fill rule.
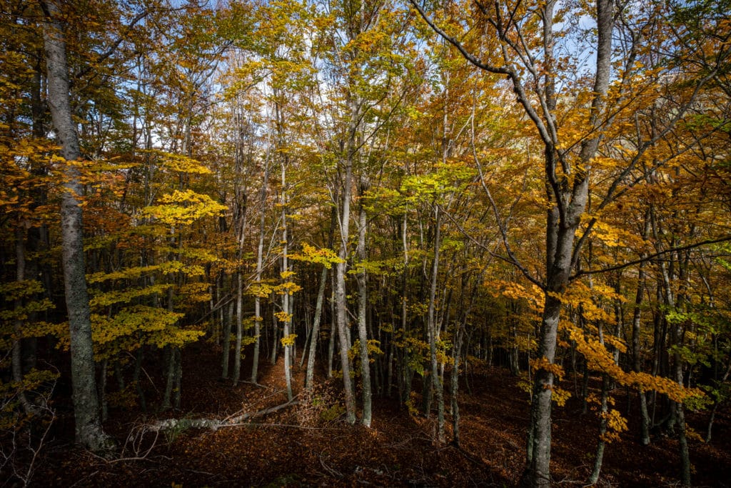
[[86,263],[80,195],[83,185],[74,162],[81,152],[69,100],[69,64],[65,25],[55,2],[41,2],[43,43],[48,70],[48,107],[61,156],[66,159],[64,191],[61,195],[61,260],[71,336],[71,376],[77,443],[91,451],[113,448],[115,442],[102,429],[99,399],[96,397],[94,347],[91,341],[91,312],[86,289]]

